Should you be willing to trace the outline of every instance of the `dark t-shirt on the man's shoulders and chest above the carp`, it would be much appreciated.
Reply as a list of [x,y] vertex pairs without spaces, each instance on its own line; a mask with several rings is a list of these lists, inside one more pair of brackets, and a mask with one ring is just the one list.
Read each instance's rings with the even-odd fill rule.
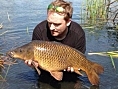
[[81,28],[81,26],[73,21],[71,22],[70,26],[68,26],[67,36],[61,41],[56,40],[51,35],[50,29],[48,27],[48,23],[46,20],[39,23],[35,27],[33,31],[33,35],[32,35],[32,40],[61,42],[63,44],[76,48],[82,53],[85,53],[85,50],[86,50],[85,33],[83,29]]

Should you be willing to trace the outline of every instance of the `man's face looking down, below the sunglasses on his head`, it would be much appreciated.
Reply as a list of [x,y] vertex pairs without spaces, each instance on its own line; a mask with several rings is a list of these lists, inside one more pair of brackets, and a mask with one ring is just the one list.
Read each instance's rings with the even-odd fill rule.
[[47,21],[52,36],[61,35],[66,30],[67,25],[70,22],[66,22],[63,15],[59,15],[55,12],[48,12]]

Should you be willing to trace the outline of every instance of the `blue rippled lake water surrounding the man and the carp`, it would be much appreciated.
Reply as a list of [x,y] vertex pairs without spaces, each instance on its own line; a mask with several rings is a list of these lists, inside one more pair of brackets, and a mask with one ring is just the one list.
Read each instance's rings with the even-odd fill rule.
[[[46,19],[46,8],[50,0],[1,0],[0,1],[0,53],[21,46],[31,41],[34,27]],[[73,0],[73,20],[81,22],[82,0]],[[88,55],[89,52],[104,52],[117,50],[118,33],[116,31],[85,29],[87,39],[86,56],[104,66],[105,72],[100,75],[100,89],[118,88],[118,60],[114,59],[114,70],[109,57]],[[8,71],[8,73],[7,73]],[[5,66],[1,75],[6,81],[0,81],[0,89],[39,89],[35,71],[18,60],[18,64]],[[6,76],[7,75],[7,76]],[[90,84],[83,79],[84,88]],[[73,83],[62,83],[62,89],[72,89]],[[53,89],[50,85],[41,83],[40,89]]]

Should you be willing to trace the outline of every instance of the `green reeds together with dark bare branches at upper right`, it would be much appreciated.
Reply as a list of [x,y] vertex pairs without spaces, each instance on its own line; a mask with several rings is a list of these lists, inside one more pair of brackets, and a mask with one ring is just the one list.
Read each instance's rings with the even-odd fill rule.
[[84,11],[82,11],[84,12],[82,13],[82,15],[84,14],[84,23],[87,23],[89,27],[101,27],[104,26],[108,20],[112,19],[115,22],[115,19],[117,19],[118,15],[118,9],[115,8],[115,12],[110,14],[110,10],[114,8],[111,8],[110,5],[114,3],[118,3],[118,0],[86,0],[86,3],[82,6],[82,9],[84,8]]

